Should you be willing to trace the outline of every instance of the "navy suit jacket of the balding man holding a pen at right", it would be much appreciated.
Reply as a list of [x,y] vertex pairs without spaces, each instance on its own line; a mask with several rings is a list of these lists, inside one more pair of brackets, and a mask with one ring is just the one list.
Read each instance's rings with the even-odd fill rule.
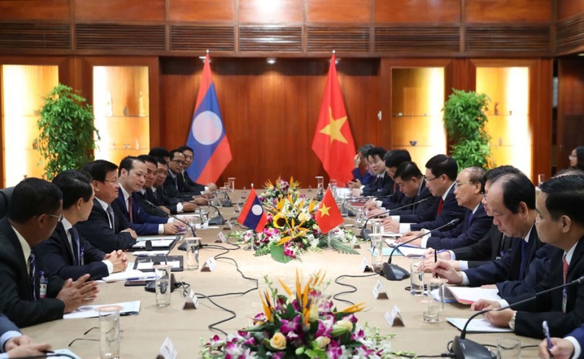
[[540,248],[541,241],[537,236],[535,226],[531,228],[531,233],[527,241],[527,259],[524,263],[523,277],[521,274],[523,238],[512,238],[512,245],[499,260],[493,260],[483,266],[471,268],[464,271],[470,282],[470,287],[478,287],[483,284],[493,284],[502,281],[522,281],[529,271],[529,264],[536,257],[537,249]]

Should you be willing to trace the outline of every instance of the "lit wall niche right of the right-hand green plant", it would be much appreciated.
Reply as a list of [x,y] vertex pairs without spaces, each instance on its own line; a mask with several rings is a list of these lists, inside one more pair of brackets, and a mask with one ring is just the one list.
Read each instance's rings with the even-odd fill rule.
[[492,101],[486,131],[493,165],[512,165],[531,177],[529,68],[477,67],[477,93],[486,93]]

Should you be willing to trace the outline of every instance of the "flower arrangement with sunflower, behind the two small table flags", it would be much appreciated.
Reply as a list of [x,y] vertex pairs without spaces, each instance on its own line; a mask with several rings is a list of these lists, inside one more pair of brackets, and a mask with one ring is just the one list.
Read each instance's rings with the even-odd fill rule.
[[318,201],[307,200],[296,191],[280,197],[275,205],[264,205],[267,225],[262,232],[230,233],[238,243],[254,248],[256,256],[270,253],[277,262],[286,263],[298,259],[308,249],[328,246],[342,253],[359,254],[353,249],[357,236],[352,231],[335,228],[322,234],[314,219]]

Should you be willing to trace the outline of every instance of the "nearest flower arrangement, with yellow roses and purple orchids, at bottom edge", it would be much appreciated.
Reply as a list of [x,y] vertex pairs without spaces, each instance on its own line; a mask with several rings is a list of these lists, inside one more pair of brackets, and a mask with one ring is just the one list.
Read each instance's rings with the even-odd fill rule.
[[378,329],[357,323],[354,313],[364,303],[342,310],[324,294],[330,281],[313,274],[304,287],[296,272],[293,291],[280,279],[286,294],[280,294],[266,277],[268,289],[260,294],[263,312],[253,318],[253,326],[221,339],[215,335],[205,343],[201,355],[218,358],[390,358],[389,336]]

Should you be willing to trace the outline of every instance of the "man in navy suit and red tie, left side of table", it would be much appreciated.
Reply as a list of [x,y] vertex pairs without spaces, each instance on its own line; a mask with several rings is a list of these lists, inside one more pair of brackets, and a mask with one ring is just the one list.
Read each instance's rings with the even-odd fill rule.
[[156,217],[144,211],[137,198],[137,192],[142,189],[147,173],[143,159],[127,156],[120,162],[120,191],[117,204],[126,217],[130,228],[138,235],[176,234],[183,229],[173,223],[173,218]]

